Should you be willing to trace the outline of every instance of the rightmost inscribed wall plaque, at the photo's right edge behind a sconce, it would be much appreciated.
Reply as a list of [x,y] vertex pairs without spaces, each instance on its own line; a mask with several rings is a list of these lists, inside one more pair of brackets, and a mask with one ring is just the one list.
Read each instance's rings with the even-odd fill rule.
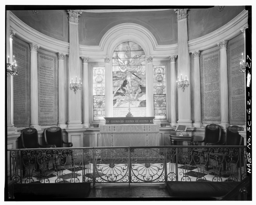
[[231,39],[228,44],[228,84],[230,124],[244,125],[245,117],[245,74],[240,72],[240,61],[244,53],[244,36]]

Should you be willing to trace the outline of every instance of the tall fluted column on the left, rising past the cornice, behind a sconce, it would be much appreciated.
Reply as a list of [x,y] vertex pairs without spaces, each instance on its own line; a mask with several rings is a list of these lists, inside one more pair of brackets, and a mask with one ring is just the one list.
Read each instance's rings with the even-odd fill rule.
[[[81,10],[68,10],[69,13],[69,81],[79,79],[79,38],[78,38],[78,16]],[[83,87],[82,87],[83,89]],[[81,90],[76,93],[69,89],[68,104],[68,128],[82,128],[81,121]]]

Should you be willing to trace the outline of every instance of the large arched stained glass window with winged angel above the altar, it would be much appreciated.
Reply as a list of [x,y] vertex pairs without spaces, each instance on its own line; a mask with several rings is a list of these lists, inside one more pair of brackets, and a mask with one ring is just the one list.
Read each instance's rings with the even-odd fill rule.
[[119,44],[112,56],[113,117],[146,117],[145,53],[137,43]]

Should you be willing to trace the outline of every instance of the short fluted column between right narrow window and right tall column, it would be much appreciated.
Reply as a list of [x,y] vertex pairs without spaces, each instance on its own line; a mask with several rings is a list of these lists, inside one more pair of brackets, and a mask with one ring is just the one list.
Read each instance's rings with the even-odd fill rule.
[[176,87],[176,58],[175,56],[170,56],[171,61],[171,126],[176,127],[177,125],[177,87]]

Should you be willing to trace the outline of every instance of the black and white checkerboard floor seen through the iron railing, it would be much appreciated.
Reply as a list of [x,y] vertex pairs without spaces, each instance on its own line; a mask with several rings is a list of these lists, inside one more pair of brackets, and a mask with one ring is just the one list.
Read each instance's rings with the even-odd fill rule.
[[[160,164],[159,164],[160,165]],[[107,167],[108,165],[106,165]],[[124,167],[125,165],[119,164],[119,167]],[[143,166],[143,164],[142,164]],[[93,165],[90,164],[90,166],[86,166],[87,168],[84,169],[84,175],[86,179],[88,179],[90,182],[92,182],[92,175],[93,175]],[[42,177],[39,172],[33,172],[33,176],[29,179],[24,177],[22,179],[22,183],[28,183],[28,182],[34,182],[34,183],[66,183],[66,182],[82,182],[83,177],[83,168],[82,166],[75,166],[75,168],[72,168],[71,165],[66,165],[65,167],[62,167],[64,169],[60,169],[56,172],[54,169],[48,169],[47,172],[44,174],[45,177]],[[208,170],[205,170],[204,166],[191,166],[191,165],[182,165],[178,164],[178,173],[176,173],[176,167],[174,163],[167,163],[166,166],[167,175],[168,173],[174,172],[176,177],[178,178],[178,181],[185,180],[185,181],[197,181],[198,177],[205,180],[205,181],[214,181],[213,178],[218,176],[219,171],[216,167],[209,165]],[[145,173],[147,172],[147,169],[145,169]],[[105,172],[106,173],[106,172]],[[163,172],[164,173],[164,172]],[[105,176],[104,176],[105,175]],[[96,174],[96,178],[99,177],[112,177],[115,175],[115,172],[107,172],[107,174],[104,174],[100,170],[98,170]],[[127,172],[128,175],[128,172]],[[218,177],[218,180],[226,181],[228,180],[230,176],[229,171],[227,170],[225,174],[222,173],[221,177]],[[118,176],[121,178],[122,176]],[[239,174],[237,173],[237,179],[239,179]],[[183,178],[183,179],[182,179]],[[221,178],[221,179],[220,179]],[[96,180],[97,182],[97,180]]]

